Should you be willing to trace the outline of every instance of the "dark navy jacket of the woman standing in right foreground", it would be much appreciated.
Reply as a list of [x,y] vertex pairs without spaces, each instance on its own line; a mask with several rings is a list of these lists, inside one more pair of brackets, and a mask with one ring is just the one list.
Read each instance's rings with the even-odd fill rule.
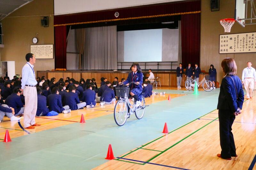
[[[234,82],[230,77],[234,79],[234,82],[236,84],[236,89],[235,89]],[[241,109],[243,107],[244,90],[243,90],[242,82],[238,76],[230,75],[230,77],[226,76],[221,81],[217,109],[231,110],[231,112],[234,113],[236,112],[238,107]],[[236,100],[236,90],[237,90],[237,100]]]

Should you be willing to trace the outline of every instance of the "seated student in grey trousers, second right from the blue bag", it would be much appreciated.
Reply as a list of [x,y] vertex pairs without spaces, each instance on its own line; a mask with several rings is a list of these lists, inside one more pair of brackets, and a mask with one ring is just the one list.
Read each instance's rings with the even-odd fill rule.
[[86,106],[85,102],[80,103],[75,87],[69,87],[68,91],[64,96],[64,100],[65,105],[68,105],[71,110],[77,110]]

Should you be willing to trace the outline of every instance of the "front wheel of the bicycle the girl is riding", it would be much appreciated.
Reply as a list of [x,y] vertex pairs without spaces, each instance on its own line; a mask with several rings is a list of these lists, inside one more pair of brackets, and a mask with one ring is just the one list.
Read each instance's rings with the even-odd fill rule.
[[125,100],[118,100],[114,109],[114,119],[118,126],[123,126],[127,120],[128,106]]

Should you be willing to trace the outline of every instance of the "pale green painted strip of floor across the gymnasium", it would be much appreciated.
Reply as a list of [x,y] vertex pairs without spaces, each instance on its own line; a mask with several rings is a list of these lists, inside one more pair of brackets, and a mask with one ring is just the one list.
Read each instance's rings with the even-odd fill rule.
[[108,161],[108,144],[121,156],[162,136],[164,122],[171,131],[216,109],[219,89],[192,93],[151,104],[141,120],[131,115],[122,127],[111,114],[0,142],[0,169],[92,169]]

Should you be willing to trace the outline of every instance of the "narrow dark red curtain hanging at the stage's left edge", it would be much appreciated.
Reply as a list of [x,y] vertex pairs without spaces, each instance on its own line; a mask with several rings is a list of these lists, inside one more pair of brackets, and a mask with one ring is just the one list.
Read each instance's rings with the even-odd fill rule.
[[55,69],[67,69],[67,26],[55,26]]

